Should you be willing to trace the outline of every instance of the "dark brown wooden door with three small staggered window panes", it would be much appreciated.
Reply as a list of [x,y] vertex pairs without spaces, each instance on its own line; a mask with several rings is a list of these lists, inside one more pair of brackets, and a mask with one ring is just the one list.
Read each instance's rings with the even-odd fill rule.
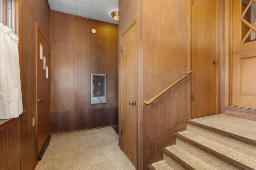
[[36,75],[36,134],[37,154],[42,152],[50,137],[50,45],[40,27],[37,29],[37,75]]

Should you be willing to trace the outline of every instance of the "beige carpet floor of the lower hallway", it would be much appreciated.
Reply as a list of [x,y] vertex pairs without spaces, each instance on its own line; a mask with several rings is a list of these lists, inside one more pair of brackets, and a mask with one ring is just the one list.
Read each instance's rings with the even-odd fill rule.
[[135,170],[112,127],[54,135],[36,170]]

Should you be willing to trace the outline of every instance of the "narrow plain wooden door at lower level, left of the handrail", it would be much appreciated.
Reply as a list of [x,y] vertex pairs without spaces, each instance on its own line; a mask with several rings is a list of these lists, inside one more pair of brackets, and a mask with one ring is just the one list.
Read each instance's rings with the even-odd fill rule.
[[121,34],[120,119],[122,150],[137,167],[137,28],[134,21]]

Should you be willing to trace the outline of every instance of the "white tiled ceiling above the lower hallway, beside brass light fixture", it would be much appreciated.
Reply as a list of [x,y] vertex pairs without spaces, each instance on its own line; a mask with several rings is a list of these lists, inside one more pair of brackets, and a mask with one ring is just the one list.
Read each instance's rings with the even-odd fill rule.
[[111,16],[118,0],[48,0],[51,10],[118,24]]

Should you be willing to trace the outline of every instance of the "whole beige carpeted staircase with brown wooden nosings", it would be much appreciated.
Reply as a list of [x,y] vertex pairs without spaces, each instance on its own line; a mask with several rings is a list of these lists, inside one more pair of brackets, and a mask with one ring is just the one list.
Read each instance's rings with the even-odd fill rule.
[[256,169],[256,121],[220,114],[186,123],[176,145],[163,148],[164,160],[149,170]]

